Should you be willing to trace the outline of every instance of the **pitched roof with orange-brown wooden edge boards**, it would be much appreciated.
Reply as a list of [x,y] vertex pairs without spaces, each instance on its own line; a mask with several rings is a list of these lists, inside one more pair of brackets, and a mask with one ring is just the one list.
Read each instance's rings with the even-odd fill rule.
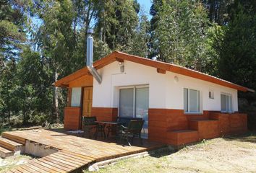
[[[165,62],[161,62],[161,61],[153,61],[151,59],[148,58],[142,58],[139,56],[132,56],[129,55],[127,53],[122,53],[119,51],[114,51],[113,53],[109,54],[108,56],[101,58],[98,61],[95,61],[93,63],[94,68],[96,68],[97,70],[100,68],[103,68],[103,66],[108,65],[109,63],[112,63],[114,61],[131,61],[134,63],[140,63],[142,65],[145,66],[151,66],[154,68],[157,68],[157,71],[162,71],[163,73],[165,73],[165,71],[171,71],[174,72],[176,74],[182,74],[185,76],[189,76],[195,79],[201,79],[203,81],[209,81],[212,82],[214,84],[219,84],[221,86],[226,86],[229,88],[233,88],[233,89],[237,89],[239,91],[242,92],[254,92],[254,90],[252,89],[248,89],[247,87],[244,86],[240,86],[238,84],[234,84],[230,81],[225,81],[223,79],[219,79],[215,76],[210,76],[208,74],[204,74],[202,72],[199,71],[195,71],[189,68],[185,68],[182,66],[178,66],[172,63],[165,63]],[[90,75],[90,72],[88,71],[88,68],[82,68],[78,71],[75,71],[73,74],[70,74],[69,76],[65,76],[62,79],[59,79],[59,81],[56,81],[54,83],[55,86],[68,86],[70,81],[74,81],[75,79],[78,79],[82,76],[85,75]]]

